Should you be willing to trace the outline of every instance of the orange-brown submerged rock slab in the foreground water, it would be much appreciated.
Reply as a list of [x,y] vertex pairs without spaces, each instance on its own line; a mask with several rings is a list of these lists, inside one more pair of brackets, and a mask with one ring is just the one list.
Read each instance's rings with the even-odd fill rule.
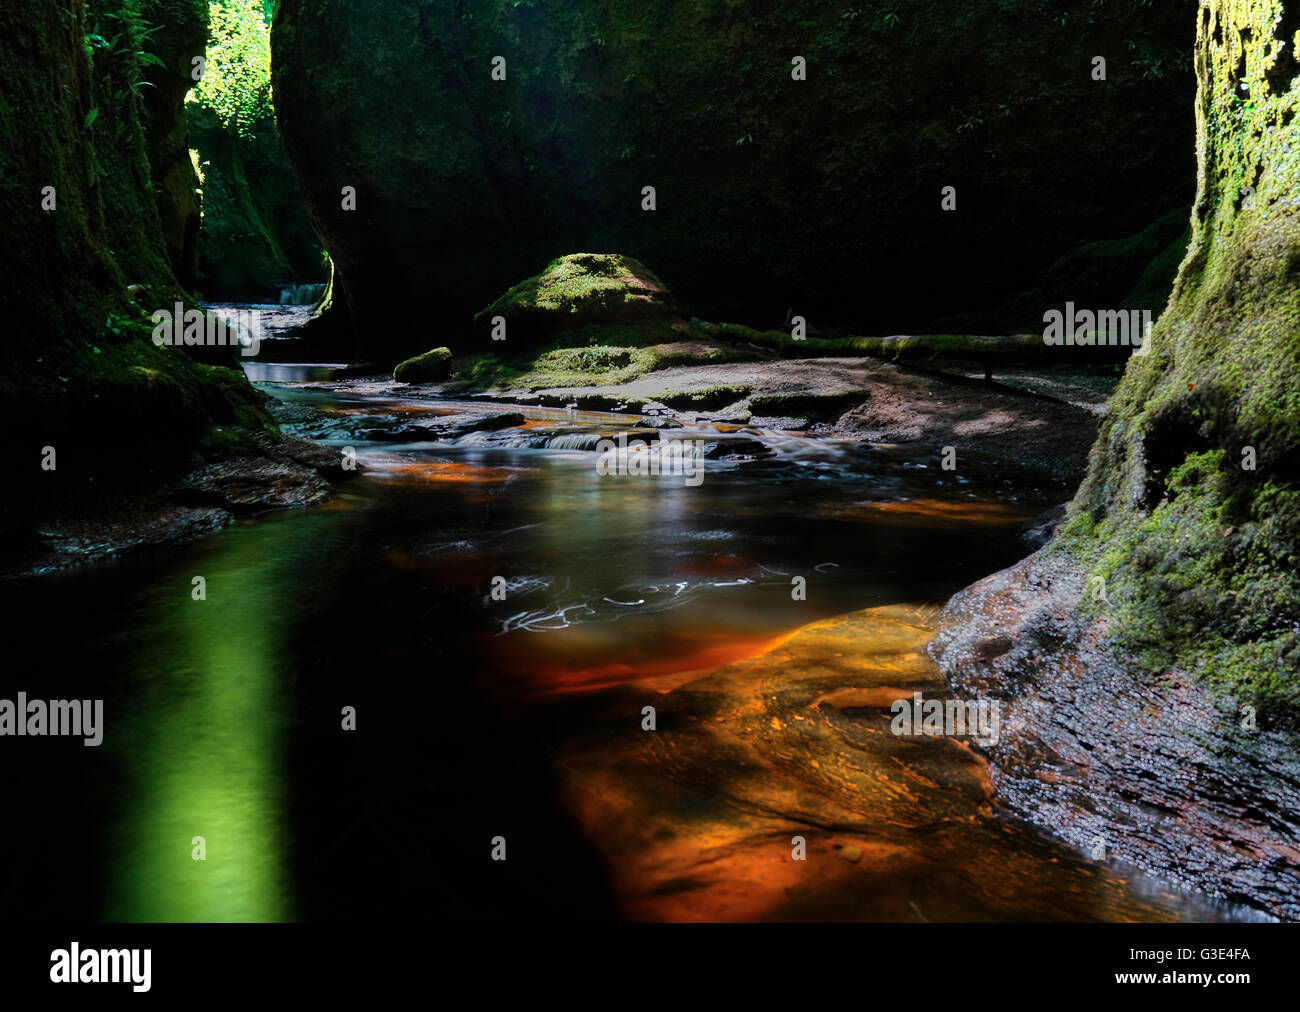
[[[606,730],[569,739],[568,804],[638,920],[1206,918],[1000,818],[983,757],[890,732],[890,704],[946,695],[933,613],[819,622],[770,653],[603,697]],[[658,730],[641,730],[641,708]],[[792,838],[807,860],[792,857]]]

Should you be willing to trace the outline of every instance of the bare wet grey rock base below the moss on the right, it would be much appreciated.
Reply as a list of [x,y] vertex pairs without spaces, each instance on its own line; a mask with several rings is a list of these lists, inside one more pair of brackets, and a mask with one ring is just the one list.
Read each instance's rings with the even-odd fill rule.
[[1158,678],[1076,614],[1084,587],[1040,552],[957,594],[931,648],[963,695],[1004,700],[993,783],[1066,842],[1300,920],[1300,747],[1247,730],[1191,675]]

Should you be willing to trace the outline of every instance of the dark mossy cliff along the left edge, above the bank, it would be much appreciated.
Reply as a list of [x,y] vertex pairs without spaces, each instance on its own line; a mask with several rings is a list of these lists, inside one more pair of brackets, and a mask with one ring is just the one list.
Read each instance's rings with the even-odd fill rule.
[[22,0],[0,13],[0,399],[21,489],[9,509],[185,466],[213,427],[263,421],[240,372],[150,341],[147,313],[186,298],[159,213],[169,204],[155,180],[168,170],[148,160],[170,148],[150,138],[183,130],[147,129],[138,82],[146,66],[188,65],[191,33],[173,49],[148,27],[143,7],[122,3]]

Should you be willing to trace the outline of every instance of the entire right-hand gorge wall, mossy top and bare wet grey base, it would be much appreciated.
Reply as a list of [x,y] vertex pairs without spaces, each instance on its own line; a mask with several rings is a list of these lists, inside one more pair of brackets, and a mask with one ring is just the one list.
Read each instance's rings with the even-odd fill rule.
[[932,652],[1013,808],[1300,918],[1300,3],[1197,14],[1192,241],[1061,532]]

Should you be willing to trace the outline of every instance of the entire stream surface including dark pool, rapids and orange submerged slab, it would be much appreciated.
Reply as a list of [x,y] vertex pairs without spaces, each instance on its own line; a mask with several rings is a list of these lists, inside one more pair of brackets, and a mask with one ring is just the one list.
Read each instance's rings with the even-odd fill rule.
[[[781,363],[780,375],[827,386],[861,366]],[[173,496],[191,516],[224,510],[224,529],[8,585],[31,635],[87,600],[118,630],[95,669],[116,687],[112,762],[52,757],[48,774],[88,777],[125,813],[68,827],[113,840],[104,860],[126,872],[87,872],[103,874],[109,916],[376,916],[412,891],[462,918],[551,916],[566,901],[555,869],[572,916],[598,918],[1253,916],[1009,817],[972,743],[889,734],[893,700],[952,695],[926,657],[939,606],[1019,558],[1024,526],[1067,494],[1066,479],[976,450],[950,473],[928,444],[690,411],[456,402],[321,366],[250,368],[281,377],[260,389],[283,438],[335,462],[355,447],[359,477],[304,509]],[[918,431],[936,424],[918,418]],[[699,488],[599,477],[582,447],[619,432],[716,451]],[[207,602],[188,600],[191,574],[208,580]],[[806,596],[792,593],[796,578]],[[56,650],[58,670],[84,670],[77,650]],[[251,678],[259,699],[278,700],[252,723]],[[367,735],[338,753],[344,702],[391,744]],[[448,706],[436,756],[408,744],[429,739],[422,714]],[[238,804],[222,832],[242,849],[221,852],[221,881],[255,887],[191,882],[190,862],[152,843],[214,818],[204,791],[162,808],[136,791],[161,775],[148,764],[160,749],[200,780],[224,757],[221,790]],[[133,782],[104,779],[121,764]],[[454,885],[390,839],[425,803],[463,829],[436,848],[462,869]],[[515,855],[504,873],[473,847],[498,834]],[[794,836],[806,860],[793,860]],[[387,860],[358,877],[377,848]],[[339,901],[344,872],[361,892]],[[131,875],[160,885],[136,895]]]

